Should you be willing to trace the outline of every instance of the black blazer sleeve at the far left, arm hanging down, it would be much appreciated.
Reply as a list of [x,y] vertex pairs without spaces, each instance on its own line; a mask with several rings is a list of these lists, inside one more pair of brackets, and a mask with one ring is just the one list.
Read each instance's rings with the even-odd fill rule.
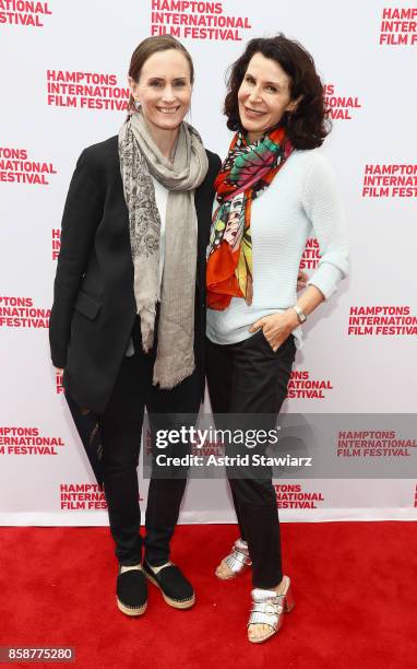
[[102,220],[103,206],[103,188],[86,149],[76,163],[62,216],[61,248],[49,319],[50,352],[56,367],[64,367],[67,363],[73,307]]

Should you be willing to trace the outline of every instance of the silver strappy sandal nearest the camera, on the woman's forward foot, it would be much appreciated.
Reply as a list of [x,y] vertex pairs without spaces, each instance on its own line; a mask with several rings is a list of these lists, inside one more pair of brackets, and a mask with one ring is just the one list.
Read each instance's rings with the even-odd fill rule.
[[261,644],[271,636],[279,632],[284,623],[284,613],[289,613],[294,609],[295,601],[293,597],[291,584],[288,576],[284,576],[285,590],[282,595],[277,595],[275,590],[261,590],[255,588],[252,590],[251,612],[248,620],[249,625],[269,625],[270,634],[260,638],[250,638],[252,644]]

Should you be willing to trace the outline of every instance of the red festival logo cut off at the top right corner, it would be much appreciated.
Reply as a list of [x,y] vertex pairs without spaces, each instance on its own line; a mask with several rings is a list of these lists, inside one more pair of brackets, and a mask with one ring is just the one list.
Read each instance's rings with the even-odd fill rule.
[[417,45],[417,7],[385,7],[379,34],[381,46]]

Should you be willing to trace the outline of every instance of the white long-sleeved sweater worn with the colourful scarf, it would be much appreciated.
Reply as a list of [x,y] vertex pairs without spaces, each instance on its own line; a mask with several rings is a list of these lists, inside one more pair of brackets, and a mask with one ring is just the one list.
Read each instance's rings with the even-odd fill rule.
[[[297,275],[308,237],[320,261],[308,283],[330,297],[348,271],[345,216],[327,159],[318,150],[294,151],[251,210],[253,301],[233,297],[223,312],[207,310],[207,337],[218,344],[243,341],[259,318],[297,302]],[[301,328],[294,330],[302,345]]]

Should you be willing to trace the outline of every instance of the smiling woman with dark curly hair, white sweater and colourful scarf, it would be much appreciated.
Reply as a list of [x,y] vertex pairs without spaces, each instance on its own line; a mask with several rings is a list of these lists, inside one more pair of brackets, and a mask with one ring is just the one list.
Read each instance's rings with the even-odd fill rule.
[[[236,134],[215,181],[207,251],[208,391],[217,425],[269,430],[286,398],[302,324],[347,273],[345,222],[318,149],[330,130],[323,85],[302,46],[282,34],[252,39],[231,68],[224,110]],[[321,258],[297,298],[312,232]],[[249,457],[264,454],[264,441]],[[272,471],[238,463],[228,478],[240,538],[216,575],[228,579],[252,566],[248,635],[260,643],[294,607]]]

